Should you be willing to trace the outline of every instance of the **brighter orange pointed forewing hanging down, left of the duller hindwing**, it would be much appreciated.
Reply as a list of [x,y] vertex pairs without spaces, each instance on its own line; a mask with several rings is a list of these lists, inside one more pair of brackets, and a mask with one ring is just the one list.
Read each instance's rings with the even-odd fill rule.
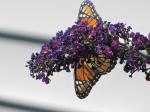
[[101,75],[91,63],[87,63],[84,59],[79,58],[79,62],[75,66],[76,95],[80,99],[88,96],[93,85],[98,81],[100,76]]

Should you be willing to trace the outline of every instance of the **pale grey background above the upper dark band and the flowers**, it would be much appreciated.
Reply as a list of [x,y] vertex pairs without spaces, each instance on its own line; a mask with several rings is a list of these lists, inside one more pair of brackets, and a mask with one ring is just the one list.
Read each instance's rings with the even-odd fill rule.
[[[0,28],[55,34],[77,19],[82,0],[0,0]],[[125,22],[149,33],[149,0],[92,0],[97,12],[112,23]]]

